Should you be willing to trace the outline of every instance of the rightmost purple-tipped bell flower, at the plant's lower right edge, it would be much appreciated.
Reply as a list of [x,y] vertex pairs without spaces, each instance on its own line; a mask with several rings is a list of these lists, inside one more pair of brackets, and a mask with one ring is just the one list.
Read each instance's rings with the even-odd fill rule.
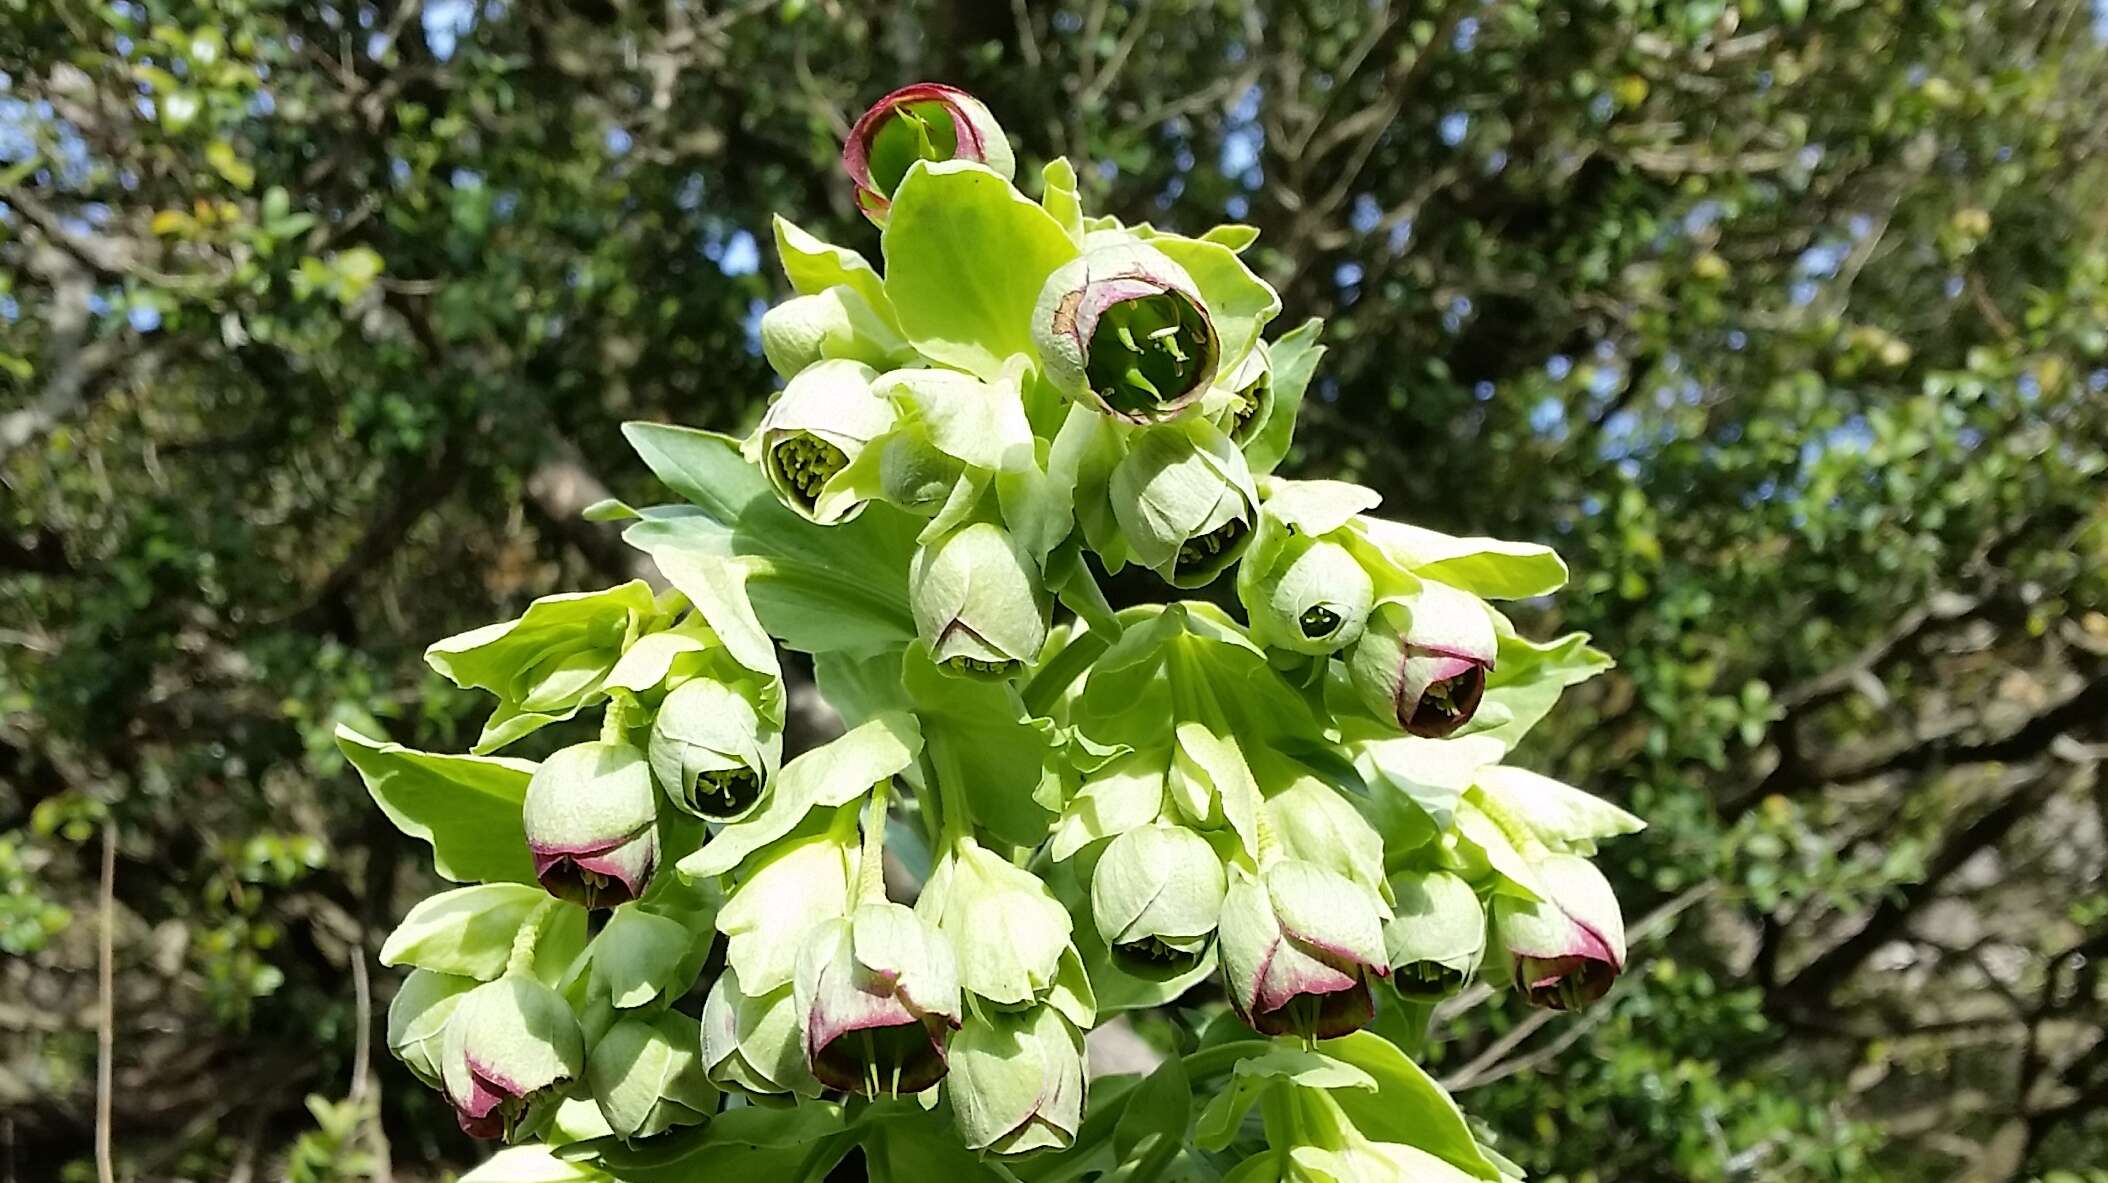
[[1530,1006],[1579,1010],[1625,968],[1625,917],[1611,881],[1579,854],[1547,854],[1530,871],[1543,898],[1495,896],[1495,936]]

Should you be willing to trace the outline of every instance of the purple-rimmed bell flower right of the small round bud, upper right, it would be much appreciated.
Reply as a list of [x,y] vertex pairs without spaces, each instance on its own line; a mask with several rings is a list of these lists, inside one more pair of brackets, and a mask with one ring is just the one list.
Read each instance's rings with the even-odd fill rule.
[[1478,597],[1423,582],[1412,597],[1377,605],[1347,675],[1370,715],[1442,740],[1478,713],[1495,647],[1492,614]]

